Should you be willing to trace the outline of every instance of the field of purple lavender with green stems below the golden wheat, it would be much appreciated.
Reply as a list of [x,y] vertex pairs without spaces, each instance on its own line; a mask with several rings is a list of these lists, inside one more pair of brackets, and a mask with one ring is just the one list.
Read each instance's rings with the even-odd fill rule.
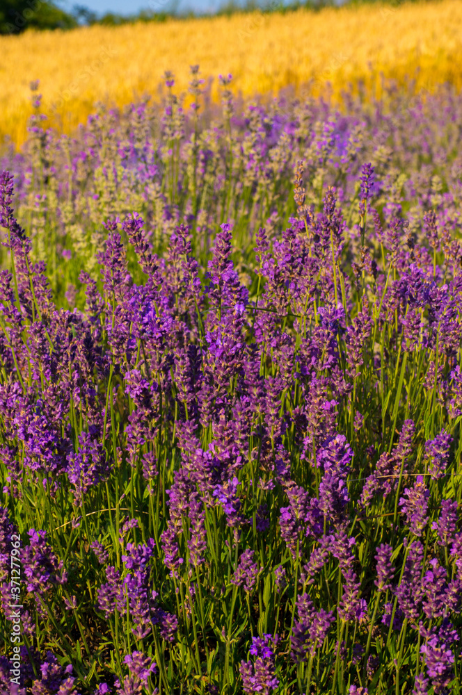
[[0,692],[461,692],[462,95],[0,161]]

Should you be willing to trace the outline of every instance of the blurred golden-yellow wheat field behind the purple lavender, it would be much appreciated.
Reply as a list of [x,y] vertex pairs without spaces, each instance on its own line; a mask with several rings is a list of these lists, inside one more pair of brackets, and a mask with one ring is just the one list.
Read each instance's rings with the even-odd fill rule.
[[29,31],[0,38],[0,136],[24,141],[34,79],[49,124],[68,132],[97,101],[122,106],[155,94],[165,70],[186,91],[196,63],[203,77],[215,78],[216,99],[216,77],[228,72],[244,97],[289,84],[316,92],[330,82],[334,95],[358,80],[377,89],[381,75],[416,78],[428,90],[445,81],[459,87],[461,55],[460,0]]

